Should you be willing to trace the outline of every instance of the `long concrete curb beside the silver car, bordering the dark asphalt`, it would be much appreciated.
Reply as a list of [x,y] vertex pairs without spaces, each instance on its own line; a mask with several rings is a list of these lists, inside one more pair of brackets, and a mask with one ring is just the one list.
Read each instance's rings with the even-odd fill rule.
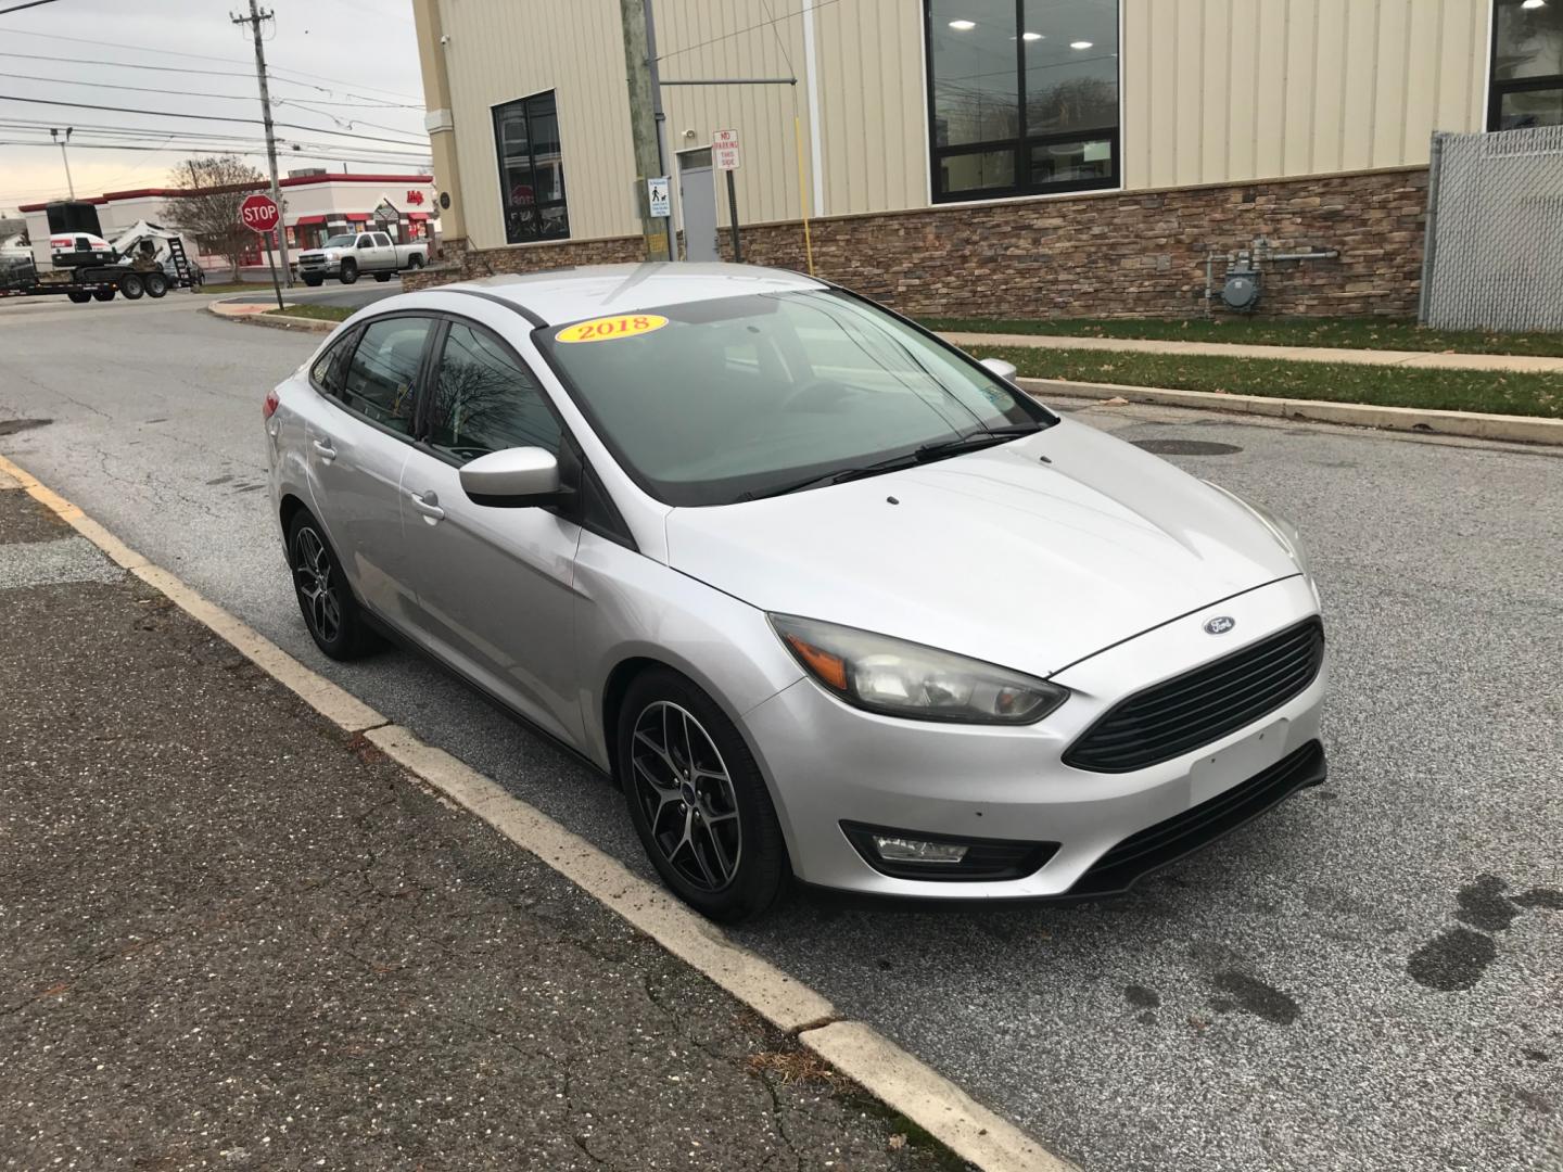
[[663,888],[631,874],[619,859],[511,795],[492,778],[442,749],[424,744],[406,728],[389,724],[358,697],[305,667],[270,639],[131,550],[30,472],[0,456],[0,486],[6,477],[338,728],[363,734],[431,791],[483,819],[767,1022],[796,1034],[810,1050],[967,1163],[985,1172],[1072,1172],[1071,1164],[974,1102],[930,1066],[861,1022],[835,1020],[835,1006],[814,989],[735,944]]

